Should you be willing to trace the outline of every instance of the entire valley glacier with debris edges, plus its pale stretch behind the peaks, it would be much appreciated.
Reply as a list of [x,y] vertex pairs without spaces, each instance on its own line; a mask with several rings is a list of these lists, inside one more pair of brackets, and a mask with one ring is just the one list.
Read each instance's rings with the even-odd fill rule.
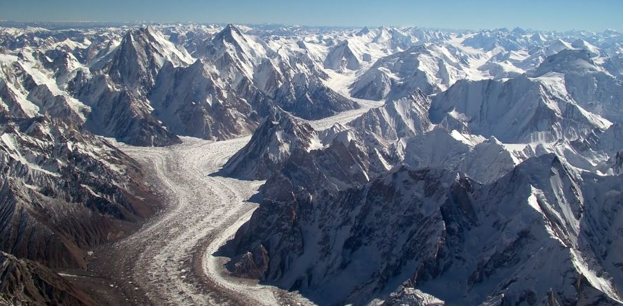
[[[359,110],[310,124],[315,128],[328,128],[338,122],[345,124],[372,106],[375,105],[362,104]],[[213,255],[258,206],[246,200],[263,182],[210,175],[250,139],[248,136],[210,142],[186,137],[183,144],[160,148],[118,144],[122,151],[143,164],[148,182],[166,207],[132,236],[93,254],[91,269],[100,274],[98,283],[107,289],[101,295],[110,295],[110,291],[119,295],[102,298],[102,303],[114,303],[109,300],[125,300],[134,305],[309,303],[276,287],[232,278],[224,270],[227,259]]]

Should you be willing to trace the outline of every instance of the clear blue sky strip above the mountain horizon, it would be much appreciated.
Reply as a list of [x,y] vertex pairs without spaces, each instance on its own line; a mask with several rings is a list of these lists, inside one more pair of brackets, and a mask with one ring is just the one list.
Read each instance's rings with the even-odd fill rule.
[[623,0],[0,0],[10,21],[192,21],[623,32]]

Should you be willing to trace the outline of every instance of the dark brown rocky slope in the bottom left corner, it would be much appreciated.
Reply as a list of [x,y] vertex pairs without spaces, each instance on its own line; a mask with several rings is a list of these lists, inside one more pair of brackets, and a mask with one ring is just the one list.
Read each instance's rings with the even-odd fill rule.
[[6,305],[97,305],[48,268],[0,252],[0,303]]

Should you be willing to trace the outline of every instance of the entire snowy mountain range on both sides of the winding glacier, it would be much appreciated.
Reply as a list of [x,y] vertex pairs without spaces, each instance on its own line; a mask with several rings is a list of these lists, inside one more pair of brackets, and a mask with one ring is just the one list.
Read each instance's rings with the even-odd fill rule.
[[96,303],[49,268],[159,205],[115,142],[249,135],[219,172],[266,180],[235,276],[319,305],[623,303],[618,32],[3,25],[3,303]]

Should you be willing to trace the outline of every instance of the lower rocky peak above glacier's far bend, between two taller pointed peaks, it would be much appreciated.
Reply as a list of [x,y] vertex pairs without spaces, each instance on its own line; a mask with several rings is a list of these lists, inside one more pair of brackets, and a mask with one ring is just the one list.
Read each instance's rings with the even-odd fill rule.
[[168,64],[150,93],[154,113],[178,135],[226,140],[254,131],[259,116],[253,106],[217,84],[222,80],[202,61],[188,68]]

